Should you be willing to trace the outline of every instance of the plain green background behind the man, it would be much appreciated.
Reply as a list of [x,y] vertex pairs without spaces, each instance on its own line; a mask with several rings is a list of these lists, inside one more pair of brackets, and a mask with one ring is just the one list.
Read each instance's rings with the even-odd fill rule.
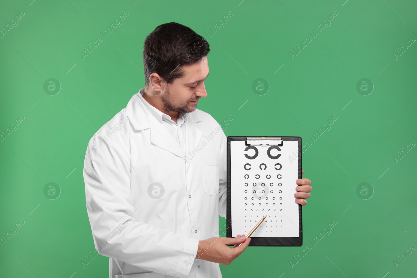
[[[417,150],[397,163],[393,157],[417,143],[416,43],[394,56],[417,38],[416,8],[394,0],[2,1],[1,29],[21,10],[25,15],[0,38],[0,133],[25,119],[0,143],[0,236],[25,223],[0,247],[0,276],[108,276],[107,257],[80,263],[94,250],[83,157],[93,134],[144,86],[144,39],[172,21],[210,43],[208,96],[198,108],[219,123],[232,115],[227,136],[311,143],[303,153],[303,177],[313,188],[303,207],[303,246],[249,247],[221,265],[223,276],[415,275],[417,251],[397,267],[394,260],[417,248]],[[83,59],[80,52],[123,11],[123,25]],[[228,11],[227,24],[208,36]],[[313,38],[309,32],[333,11],[331,25]],[[291,59],[307,36],[311,42]],[[43,89],[49,78],[61,85],[56,95]],[[257,78],[266,80],[261,93],[252,90]],[[374,86],[369,95],[356,89],[362,78]],[[309,136],[333,115],[331,129],[313,142]],[[50,182],[61,190],[55,200],[43,193]],[[364,182],[368,188],[357,194]],[[312,245],[334,219],[331,233]]]

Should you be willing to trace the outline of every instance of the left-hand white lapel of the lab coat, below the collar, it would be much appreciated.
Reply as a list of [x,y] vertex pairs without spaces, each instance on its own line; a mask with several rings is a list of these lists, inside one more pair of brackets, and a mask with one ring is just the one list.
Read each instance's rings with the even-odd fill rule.
[[155,117],[149,117],[149,124],[151,125],[151,142],[159,148],[163,148],[184,159],[184,153],[181,147],[172,137],[171,133]]

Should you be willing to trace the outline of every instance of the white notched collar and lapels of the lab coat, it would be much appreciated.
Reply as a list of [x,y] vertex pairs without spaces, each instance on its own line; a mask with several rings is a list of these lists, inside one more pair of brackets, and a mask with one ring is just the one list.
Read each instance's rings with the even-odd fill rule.
[[[141,90],[144,90],[144,88]],[[178,143],[173,143],[166,139],[171,137],[171,135],[168,133],[168,130],[165,128],[158,128],[158,125],[161,123],[159,123],[155,117],[150,115],[144,103],[146,100],[141,95],[141,90],[133,95],[131,100],[129,100],[128,105],[126,106],[126,113],[128,115],[129,121],[132,123],[136,130],[151,128],[151,142],[153,144],[168,150],[169,152],[178,155],[181,158],[186,159],[183,150],[178,145]],[[195,124],[196,122],[200,122],[202,120],[200,113],[201,112],[196,109],[184,116],[187,130],[186,154],[193,150],[193,148],[199,143],[201,137],[203,136],[203,132]]]

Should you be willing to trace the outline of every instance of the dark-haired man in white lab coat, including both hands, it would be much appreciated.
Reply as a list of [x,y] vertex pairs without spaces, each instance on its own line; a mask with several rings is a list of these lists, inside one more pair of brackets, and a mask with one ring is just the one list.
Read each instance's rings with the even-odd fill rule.
[[[219,237],[226,136],[196,109],[207,96],[209,51],[184,25],[158,26],[143,46],[145,88],[88,143],[87,212],[110,278],[221,277],[219,263],[249,245],[244,235]],[[305,205],[311,182],[295,182],[294,201]]]

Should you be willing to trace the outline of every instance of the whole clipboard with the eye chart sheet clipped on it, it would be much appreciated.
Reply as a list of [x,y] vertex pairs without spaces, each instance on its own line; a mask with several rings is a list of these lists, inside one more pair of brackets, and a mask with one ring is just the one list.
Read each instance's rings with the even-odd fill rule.
[[301,137],[228,136],[226,236],[246,235],[267,214],[249,246],[301,246],[297,179]]

